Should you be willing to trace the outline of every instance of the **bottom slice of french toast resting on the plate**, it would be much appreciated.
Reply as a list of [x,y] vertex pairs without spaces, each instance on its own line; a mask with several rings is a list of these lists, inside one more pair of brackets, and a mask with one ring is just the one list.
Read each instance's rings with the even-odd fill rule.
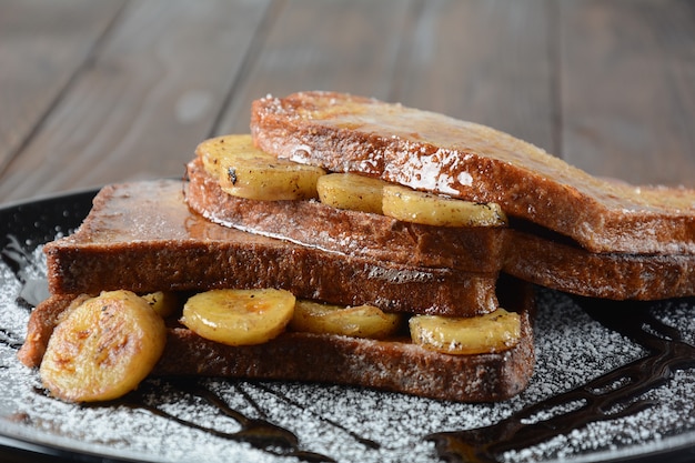
[[[518,311],[520,342],[504,352],[447,355],[407,340],[376,341],[286,332],[259,345],[229,346],[200,338],[174,323],[153,375],[205,375],[323,382],[365,386],[432,399],[488,402],[508,399],[528,383],[535,361],[530,286],[505,284],[505,306]],[[19,359],[38,368],[50,335],[73,295],[52,296],[31,314]]]

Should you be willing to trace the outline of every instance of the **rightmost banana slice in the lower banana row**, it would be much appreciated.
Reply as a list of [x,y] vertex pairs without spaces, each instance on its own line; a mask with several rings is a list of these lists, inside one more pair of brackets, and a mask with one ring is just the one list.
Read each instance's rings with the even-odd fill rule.
[[415,315],[409,321],[414,343],[446,354],[501,352],[521,339],[521,319],[497,309],[472,318]]

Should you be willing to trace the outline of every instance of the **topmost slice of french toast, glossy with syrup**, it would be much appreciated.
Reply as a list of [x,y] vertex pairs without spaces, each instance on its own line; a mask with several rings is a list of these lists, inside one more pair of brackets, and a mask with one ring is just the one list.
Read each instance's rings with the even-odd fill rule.
[[254,101],[251,132],[261,149],[298,162],[497,202],[592,252],[695,253],[695,191],[607,182],[487,127],[302,92]]

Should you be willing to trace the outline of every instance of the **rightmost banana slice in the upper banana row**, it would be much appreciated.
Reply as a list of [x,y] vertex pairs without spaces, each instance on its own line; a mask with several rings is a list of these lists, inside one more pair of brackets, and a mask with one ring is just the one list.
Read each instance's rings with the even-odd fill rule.
[[405,222],[436,227],[498,227],[506,215],[496,203],[476,203],[386,185],[383,190],[383,213]]

